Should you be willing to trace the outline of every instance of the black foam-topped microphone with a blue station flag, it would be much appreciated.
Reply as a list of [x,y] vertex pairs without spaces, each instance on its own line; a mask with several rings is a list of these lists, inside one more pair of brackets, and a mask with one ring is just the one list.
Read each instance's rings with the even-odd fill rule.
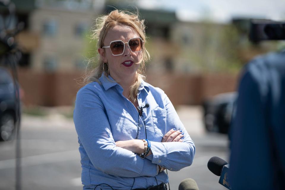
[[208,169],[213,172],[213,174],[221,176],[219,183],[222,186],[226,187],[227,189],[232,189],[228,178],[229,164],[226,161],[217,156],[214,156],[208,161]]

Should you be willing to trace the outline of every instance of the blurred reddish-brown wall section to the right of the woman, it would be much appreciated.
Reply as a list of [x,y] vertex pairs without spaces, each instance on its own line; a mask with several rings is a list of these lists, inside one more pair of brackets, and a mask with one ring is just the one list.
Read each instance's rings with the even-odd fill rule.
[[198,105],[206,98],[236,90],[238,75],[200,74],[147,75],[147,82],[162,88],[172,104]]

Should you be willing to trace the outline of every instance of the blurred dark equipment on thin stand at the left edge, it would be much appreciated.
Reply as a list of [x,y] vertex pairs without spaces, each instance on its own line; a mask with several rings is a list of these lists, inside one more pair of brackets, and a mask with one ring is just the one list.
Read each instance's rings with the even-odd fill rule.
[[18,23],[15,15],[15,4],[10,0],[0,0],[0,66],[11,70],[15,96],[15,139],[16,139],[16,183],[15,189],[21,189],[21,149],[20,149],[20,94],[17,64],[21,58],[21,51],[15,43],[17,35],[24,27]]

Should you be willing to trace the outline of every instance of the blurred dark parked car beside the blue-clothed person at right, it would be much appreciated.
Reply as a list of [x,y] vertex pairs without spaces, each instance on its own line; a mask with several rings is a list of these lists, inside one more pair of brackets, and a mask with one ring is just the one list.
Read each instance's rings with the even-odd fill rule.
[[204,125],[207,131],[227,134],[238,94],[218,94],[203,102]]

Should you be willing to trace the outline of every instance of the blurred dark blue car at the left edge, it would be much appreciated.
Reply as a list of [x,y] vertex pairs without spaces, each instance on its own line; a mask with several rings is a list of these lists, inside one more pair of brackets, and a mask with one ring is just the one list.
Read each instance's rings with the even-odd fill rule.
[[13,79],[0,67],[0,140],[11,140],[15,133],[16,98]]

